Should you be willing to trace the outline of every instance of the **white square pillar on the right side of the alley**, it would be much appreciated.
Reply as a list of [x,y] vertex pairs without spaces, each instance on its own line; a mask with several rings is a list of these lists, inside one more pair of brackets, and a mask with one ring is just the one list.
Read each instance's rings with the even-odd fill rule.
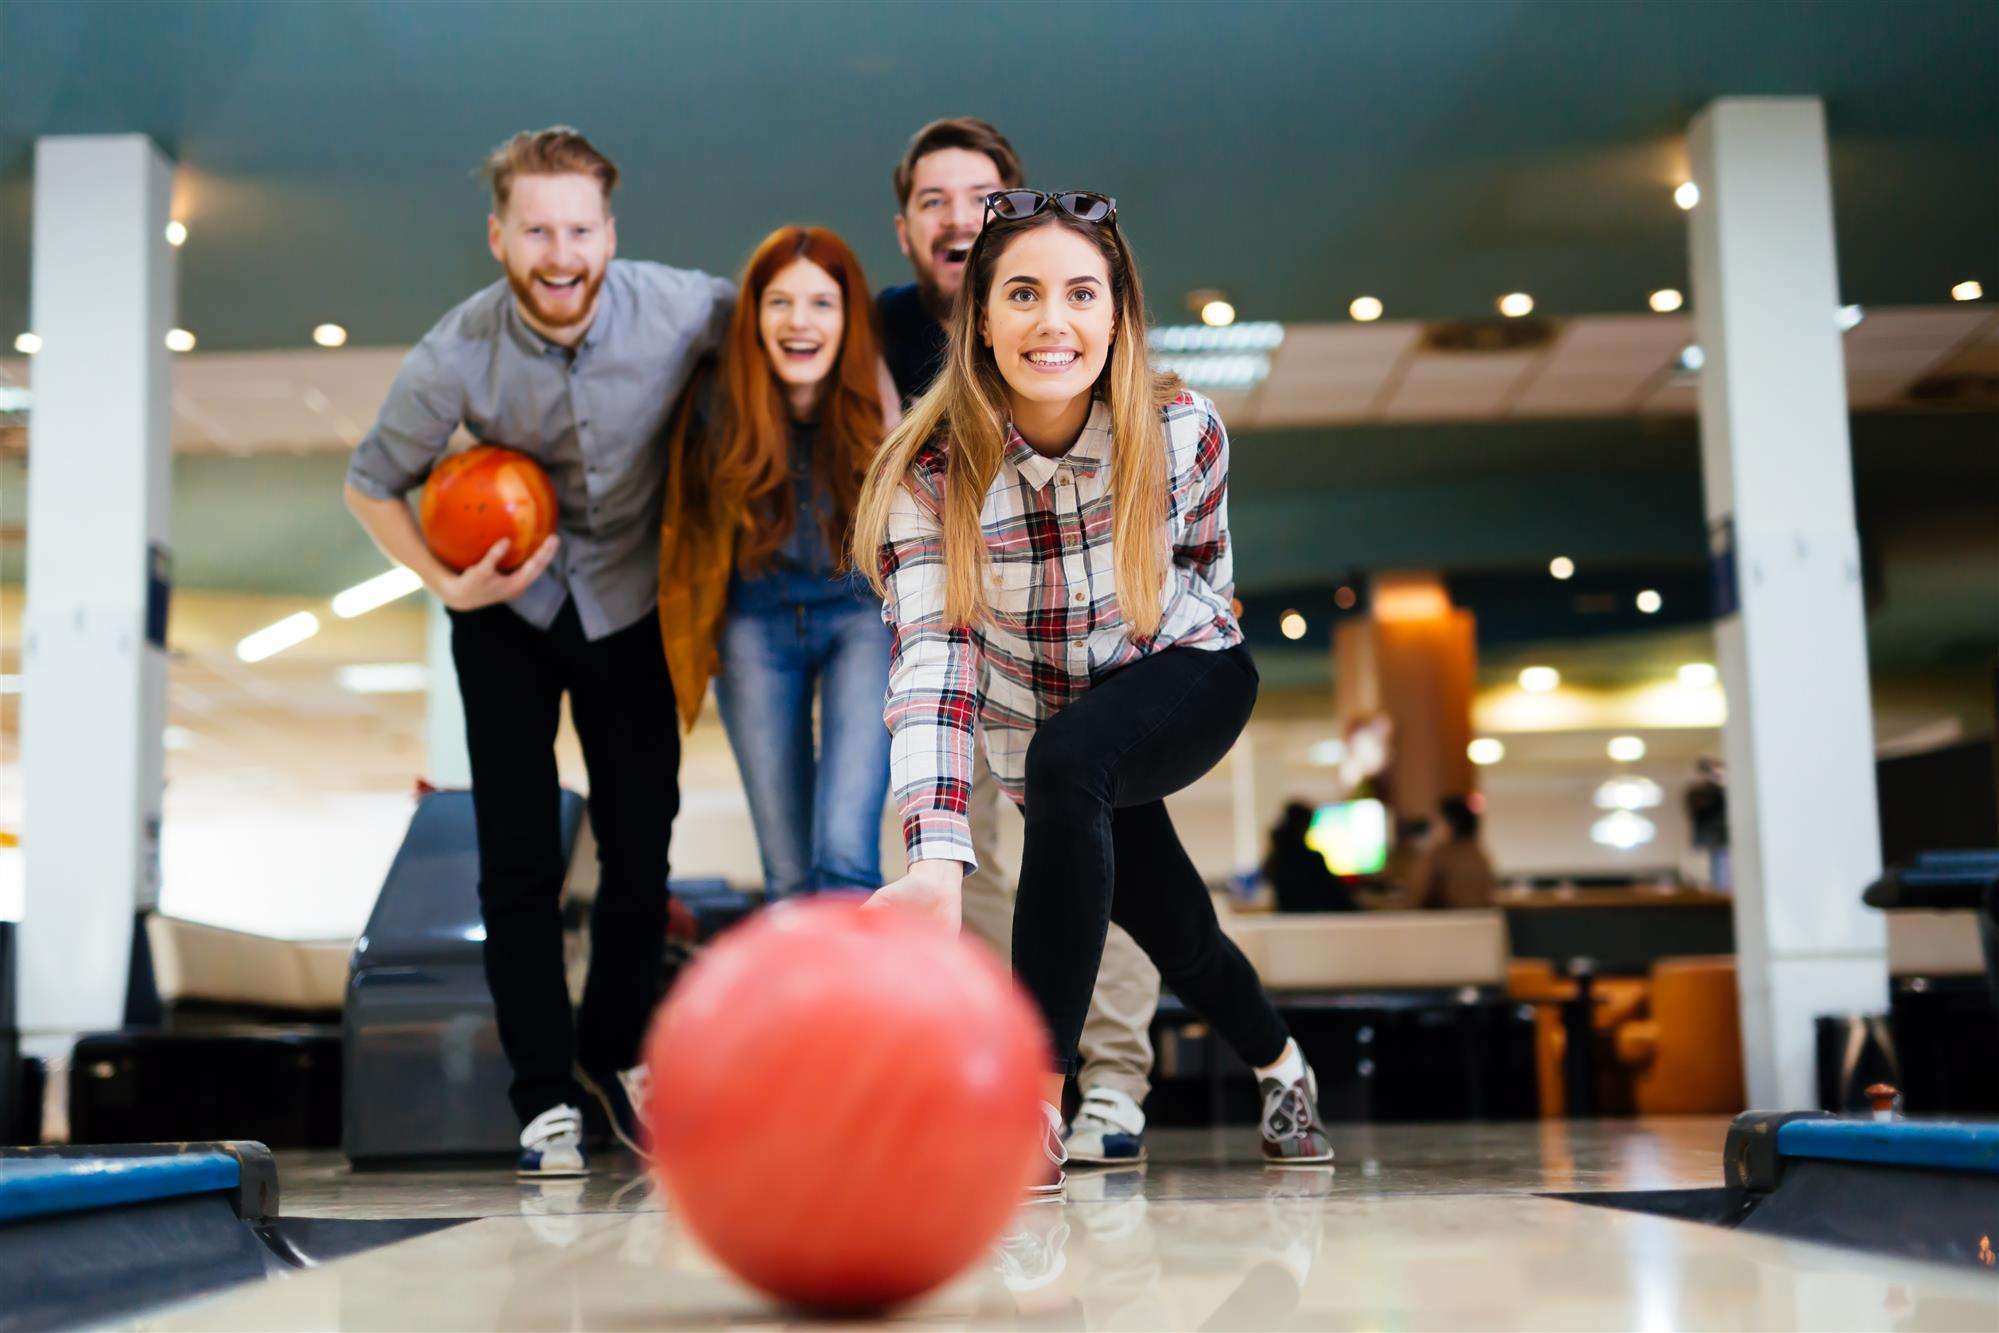
[[1811,1107],[1813,1017],[1887,1001],[1825,110],[1723,98],[1689,150],[1743,1061],[1751,1105]]

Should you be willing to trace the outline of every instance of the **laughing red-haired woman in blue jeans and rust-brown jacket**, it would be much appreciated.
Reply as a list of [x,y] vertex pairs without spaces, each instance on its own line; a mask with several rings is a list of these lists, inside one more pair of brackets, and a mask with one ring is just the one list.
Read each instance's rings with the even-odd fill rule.
[[886,434],[868,292],[826,228],[772,232],[670,440],[660,626],[674,697],[692,727],[716,681],[774,899],[882,875],[890,632],[848,560]]

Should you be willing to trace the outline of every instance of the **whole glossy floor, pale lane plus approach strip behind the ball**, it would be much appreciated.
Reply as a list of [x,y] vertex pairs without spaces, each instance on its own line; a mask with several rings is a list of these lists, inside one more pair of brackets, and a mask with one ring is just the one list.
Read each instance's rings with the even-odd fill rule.
[[[904,1327],[1981,1329],[1999,1279],[1537,1191],[1721,1179],[1725,1121],[1337,1127],[1335,1169],[1269,1171],[1247,1131],[1157,1133],[1073,1173]],[[590,1181],[280,1163],[286,1213],[472,1217],[138,1321],[150,1329],[790,1327],[628,1163]]]

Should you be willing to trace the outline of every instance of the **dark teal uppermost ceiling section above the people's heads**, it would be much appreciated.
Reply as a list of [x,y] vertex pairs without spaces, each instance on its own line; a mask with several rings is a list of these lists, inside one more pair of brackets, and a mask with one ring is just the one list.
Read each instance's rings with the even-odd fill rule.
[[734,270],[772,226],[900,280],[890,164],[994,118],[1035,182],[1119,196],[1155,304],[1245,318],[1635,310],[1685,286],[1689,118],[1819,94],[1841,288],[1999,284],[1999,6],[0,4],[0,334],[26,328],[32,140],[152,134],[184,166],[182,322],[412,340],[490,280],[472,168],[558,120],[626,168],[624,252]]

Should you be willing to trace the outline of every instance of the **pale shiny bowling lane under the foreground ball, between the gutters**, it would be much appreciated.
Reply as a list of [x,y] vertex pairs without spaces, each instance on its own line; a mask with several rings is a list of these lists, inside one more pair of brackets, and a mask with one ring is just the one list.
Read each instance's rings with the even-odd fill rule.
[[[1995,1327],[1999,1283],[1521,1193],[1367,1195],[1227,1167],[1229,1199],[1027,1205],[902,1327]],[[1135,1175],[1135,1173],[1129,1173]],[[1217,1187],[1221,1193],[1221,1187]],[[130,1327],[790,1327],[658,1211],[488,1217]]]

